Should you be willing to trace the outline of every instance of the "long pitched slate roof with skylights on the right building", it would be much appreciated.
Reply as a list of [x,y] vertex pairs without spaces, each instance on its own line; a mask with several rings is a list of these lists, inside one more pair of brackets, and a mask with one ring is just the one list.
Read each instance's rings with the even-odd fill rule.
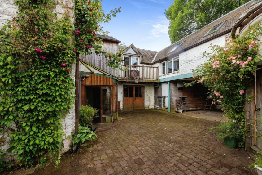
[[[254,0],[247,2],[246,4],[218,18],[217,20],[186,36],[185,38],[182,38],[180,41],[177,41],[176,43],[162,49],[158,52],[157,56],[155,57],[154,63],[164,61],[168,58],[173,58],[175,56],[178,56],[179,53],[187,49],[190,49],[191,47],[197,46],[222,34],[229,33],[234,23],[242,16],[242,14],[245,13],[246,10],[249,9],[253,1]],[[210,29],[212,29],[214,26],[218,24],[221,24],[222,22],[224,22],[224,24],[221,25],[221,27],[216,32],[205,36]],[[177,47],[174,51],[172,51],[172,49],[180,43],[182,43],[181,46]]]

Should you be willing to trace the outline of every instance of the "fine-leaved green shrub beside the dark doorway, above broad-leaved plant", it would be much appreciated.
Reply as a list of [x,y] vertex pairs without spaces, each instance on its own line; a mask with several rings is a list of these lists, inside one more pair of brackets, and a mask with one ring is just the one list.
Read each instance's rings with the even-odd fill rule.
[[90,126],[93,117],[98,112],[98,109],[91,107],[90,105],[81,105],[79,110],[79,124],[81,126]]

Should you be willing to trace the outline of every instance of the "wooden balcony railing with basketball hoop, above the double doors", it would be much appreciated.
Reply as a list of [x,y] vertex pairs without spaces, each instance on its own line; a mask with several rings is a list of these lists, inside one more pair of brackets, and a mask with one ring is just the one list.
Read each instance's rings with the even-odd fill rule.
[[119,81],[134,82],[134,75],[139,76],[138,82],[158,82],[159,67],[120,65],[127,71],[118,70]]

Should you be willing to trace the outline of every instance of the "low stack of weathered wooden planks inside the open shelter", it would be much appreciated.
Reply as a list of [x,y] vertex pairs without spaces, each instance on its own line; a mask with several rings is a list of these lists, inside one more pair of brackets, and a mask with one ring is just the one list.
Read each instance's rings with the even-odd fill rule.
[[203,96],[187,96],[180,97],[180,99],[176,100],[176,111],[180,105],[181,98],[183,98],[181,102],[182,110],[203,110],[206,105],[206,97]]

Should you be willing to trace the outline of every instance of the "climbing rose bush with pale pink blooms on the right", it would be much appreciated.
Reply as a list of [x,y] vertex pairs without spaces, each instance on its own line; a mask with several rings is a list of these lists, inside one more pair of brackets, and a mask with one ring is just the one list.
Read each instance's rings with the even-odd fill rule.
[[[245,122],[245,91],[255,75],[255,63],[261,60],[261,34],[262,26],[258,23],[240,38],[230,38],[226,47],[210,46],[212,53],[203,54],[207,61],[193,70],[196,80],[186,85],[203,84],[210,90],[207,98],[212,104],[220,104],[224,116],[238,123]],[[243,129],[244,124],[239,124],[239,128]],[[244,137],[244,130],[242,133]]]

